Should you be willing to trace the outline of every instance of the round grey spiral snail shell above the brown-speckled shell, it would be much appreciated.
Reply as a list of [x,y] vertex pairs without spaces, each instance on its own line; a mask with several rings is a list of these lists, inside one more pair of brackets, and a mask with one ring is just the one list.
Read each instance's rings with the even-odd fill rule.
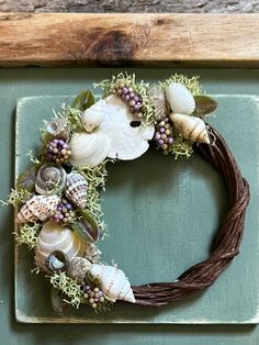
[[65,187],[66,176],[67,174],[63,167],[52,163],[44,164],[37,172],[36,192],[43,196],[58,193]]

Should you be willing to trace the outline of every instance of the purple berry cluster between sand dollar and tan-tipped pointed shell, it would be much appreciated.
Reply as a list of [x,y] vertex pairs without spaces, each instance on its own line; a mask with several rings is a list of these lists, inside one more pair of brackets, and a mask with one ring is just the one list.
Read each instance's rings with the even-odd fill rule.
[[158,146],[167,149],[169,145],[173,144],[172,123],[169,118],[166,118],[156,124],[156,133],[154,136]]

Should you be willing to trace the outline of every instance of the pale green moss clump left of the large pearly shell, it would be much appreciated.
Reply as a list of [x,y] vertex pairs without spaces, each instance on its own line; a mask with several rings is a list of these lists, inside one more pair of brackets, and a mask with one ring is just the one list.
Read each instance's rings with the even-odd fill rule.
[[30,249],[35,248],[40,227],[41,225],[38,223],[21,225],[20,229],[14,233],[16,243],[19,245],[26,244]]

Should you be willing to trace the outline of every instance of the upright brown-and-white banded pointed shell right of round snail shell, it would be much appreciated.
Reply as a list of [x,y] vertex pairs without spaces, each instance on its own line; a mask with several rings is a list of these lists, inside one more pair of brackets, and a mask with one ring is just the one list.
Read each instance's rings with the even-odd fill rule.
[[77,172],[70,172],[67,176],[65,193],[67,198],[78,208],[85,209],[87,205],[87,180]]

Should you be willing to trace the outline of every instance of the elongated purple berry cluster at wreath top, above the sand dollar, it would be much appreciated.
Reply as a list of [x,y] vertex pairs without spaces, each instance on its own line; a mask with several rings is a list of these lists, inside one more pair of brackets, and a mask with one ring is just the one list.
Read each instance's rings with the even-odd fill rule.
[[117,86],[114,87],[112,90],[112,93],[117,94],[121,97],[127,104],[130,105],[130,109],[132,113],[137,116],[138,119],[142,119],[144,116],[142,107],[142,97],[134,92],[134,89],[131,87],[127,87],[125,84],[120,82]]

